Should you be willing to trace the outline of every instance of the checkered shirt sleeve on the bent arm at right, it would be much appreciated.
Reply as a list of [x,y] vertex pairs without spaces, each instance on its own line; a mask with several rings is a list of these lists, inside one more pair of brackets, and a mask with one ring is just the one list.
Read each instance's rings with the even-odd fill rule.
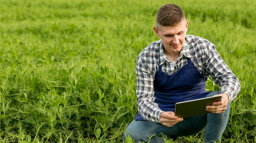
[[227,93],[229,102],[231,102],[240,91],[240,82],[216,51],[215,46],[208,43],[207,47],[209,50],[206,54],[206,71],[212,76],[213,81],[220,86],[220,93]]

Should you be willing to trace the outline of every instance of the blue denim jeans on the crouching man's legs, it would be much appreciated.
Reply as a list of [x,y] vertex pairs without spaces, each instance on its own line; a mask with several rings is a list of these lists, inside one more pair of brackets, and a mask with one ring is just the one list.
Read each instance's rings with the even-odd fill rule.
[[[207,95],[211,97],[219,94],[219,91],[213,91]],[[148,121],[133,120],[124,132],[124,142],[127,136],[130,136],[135,142],[146,143],[164,143],[162,134],[175,139],[176,137],[198,134],[204,130],[204,141],[211,143],[218,141],[222,136],[229,119],[230,103],[224,113],[200,115],[184,118],[183,121],[166,127],[162,124],[151,123]]]

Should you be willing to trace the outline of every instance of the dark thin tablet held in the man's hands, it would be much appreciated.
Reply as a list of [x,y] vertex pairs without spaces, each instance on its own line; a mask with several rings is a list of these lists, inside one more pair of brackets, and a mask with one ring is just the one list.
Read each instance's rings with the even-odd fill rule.
[[205,110],[207,105],[221,100],[221,95],[212,96],[209,98],[200,98],[196,100],[189,100],[184,102],[177,102],[175,104],[175,116],[180,118],[192,117],[197,115],[204,115],[210,112]]

